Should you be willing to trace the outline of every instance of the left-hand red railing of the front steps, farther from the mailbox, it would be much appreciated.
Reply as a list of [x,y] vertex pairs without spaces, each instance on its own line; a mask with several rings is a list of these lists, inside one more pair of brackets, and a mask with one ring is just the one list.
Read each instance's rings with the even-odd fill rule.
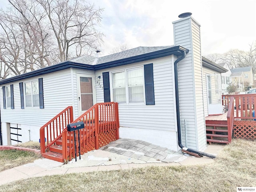
[[41,153],[44,153],[54,144],[55,140],[61,138],[62,131],[73,121],[73,107],[68,106],[54,118],[40,128]]

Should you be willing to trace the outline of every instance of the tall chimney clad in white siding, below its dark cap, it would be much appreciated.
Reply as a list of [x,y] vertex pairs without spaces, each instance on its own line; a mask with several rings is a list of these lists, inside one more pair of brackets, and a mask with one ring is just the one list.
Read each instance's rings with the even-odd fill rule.
[[[204,150],[206,148],[206,132],[202,90],[200,26],[191,17],[180,19],[173,22],[173,24],[174,44],[190,50],[186,57],[178,63],[182,132],[184,133],[184,120],[186,119],[187,147]],[[184,134],[182,143],[185,144]]]

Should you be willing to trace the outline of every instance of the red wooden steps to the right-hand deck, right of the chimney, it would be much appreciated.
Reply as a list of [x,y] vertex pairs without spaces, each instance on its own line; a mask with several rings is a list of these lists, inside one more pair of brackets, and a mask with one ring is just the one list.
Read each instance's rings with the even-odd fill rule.
[[209,144],[230,143],[227,120],[206,120],[206,141]]

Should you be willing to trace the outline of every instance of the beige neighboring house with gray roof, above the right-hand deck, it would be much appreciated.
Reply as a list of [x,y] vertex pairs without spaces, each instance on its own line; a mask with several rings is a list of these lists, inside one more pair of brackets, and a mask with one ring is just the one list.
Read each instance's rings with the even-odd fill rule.
[[253,74],[252,68],[242,67],[231,69],[232,74],[230,75],[231,82],[236,84],[239,88],[239,91],[244,91],[244,86],[253,85]]

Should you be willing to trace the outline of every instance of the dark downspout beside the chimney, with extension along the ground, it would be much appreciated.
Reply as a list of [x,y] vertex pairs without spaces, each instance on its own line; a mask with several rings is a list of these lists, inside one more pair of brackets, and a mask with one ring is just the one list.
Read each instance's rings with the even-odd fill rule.
[[175,81],[175,96],[176,96],[176,116],[177,116],[177,126],[178,126],[178,145],[182,149],[182,152],[191,154],[193,156],[197,157],[210,157],[210,158],[216,158],[216,156],[200,152],[194,149],[186,148],[182,145],[182,139],[181,139],[181,124],[180,124],[180,99],[179,99],[179,88],[178,88],[178,62],[180,62],[182,59],[186,57],[186,52],[182,52],[182,56],[178,58],[174,62],[174,81]]

